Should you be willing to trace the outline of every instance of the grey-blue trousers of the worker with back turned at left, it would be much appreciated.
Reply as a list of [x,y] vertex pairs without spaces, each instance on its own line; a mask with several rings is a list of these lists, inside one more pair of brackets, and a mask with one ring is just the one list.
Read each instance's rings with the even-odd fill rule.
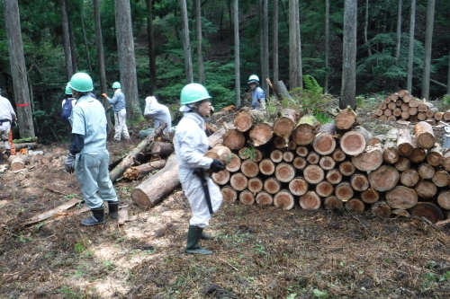
[[103,207],[103,200],[109,202],[118,200],[110,180],[109,162],[110,155],[106,150],[99,153],[76,154],[76,180],[85,198],[85,205],[91,209]]

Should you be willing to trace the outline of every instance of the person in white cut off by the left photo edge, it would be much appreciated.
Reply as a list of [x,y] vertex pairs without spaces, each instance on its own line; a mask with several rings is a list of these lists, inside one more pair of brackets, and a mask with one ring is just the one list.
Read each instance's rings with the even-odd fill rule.
[[11,127],[15,126],[17,126],[17,117],[13,106],[8,99],[0,95],[0,164],[4,163],[4,152],[8,158],[11,155],[9,135]]

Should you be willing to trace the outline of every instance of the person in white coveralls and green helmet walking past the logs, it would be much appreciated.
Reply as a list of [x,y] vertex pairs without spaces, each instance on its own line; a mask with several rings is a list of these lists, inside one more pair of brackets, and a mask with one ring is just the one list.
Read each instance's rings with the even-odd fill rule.
[[202,248],[200,239],[211,239],[203,233],[209,225],[212,213],[217,212],[222,195],[211,180],[210,173],[224,169],[217,159],[205,157],[208,138],[205,134],[205,118],[211,113],[211,96],[201,84],[187,84],[181,91],[180,111],[185,112],[175,131],[175,154],[179,164],[178,177],[189,200],[193,216],[189,222],[186,253],[211,254]]

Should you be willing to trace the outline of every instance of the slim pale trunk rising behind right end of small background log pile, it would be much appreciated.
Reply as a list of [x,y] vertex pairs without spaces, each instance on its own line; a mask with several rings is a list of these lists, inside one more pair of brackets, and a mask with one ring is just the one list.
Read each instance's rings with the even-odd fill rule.
[[427,25],[425,29],[425,59],[423,66],[422,98],[429,97],[429,77],[431,72],[431,43],[433,41],[433,24],[435,21],[435,0],[428,0]]

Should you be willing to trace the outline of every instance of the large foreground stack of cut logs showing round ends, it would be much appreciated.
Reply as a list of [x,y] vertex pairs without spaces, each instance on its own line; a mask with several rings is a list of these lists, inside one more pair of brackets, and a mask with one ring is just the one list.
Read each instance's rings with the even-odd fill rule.
[[255,123],[239,111],[222,140],[234,157],[212,178],[225,201],[244,205],[345,207],[441,220],[450,209],[450,154],[436,144],[431,125],[420,121],[412,135],[392,129],[372,136],[355,124],[349,108],[323,126],[289,109],[274,124]]

